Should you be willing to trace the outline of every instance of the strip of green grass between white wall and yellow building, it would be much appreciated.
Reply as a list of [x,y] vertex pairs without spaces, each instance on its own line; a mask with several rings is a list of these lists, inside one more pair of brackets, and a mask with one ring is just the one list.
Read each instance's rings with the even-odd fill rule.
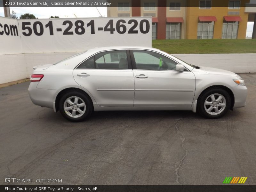
[[153,40],[152,47],[170,54],[256,53],[256,39]]

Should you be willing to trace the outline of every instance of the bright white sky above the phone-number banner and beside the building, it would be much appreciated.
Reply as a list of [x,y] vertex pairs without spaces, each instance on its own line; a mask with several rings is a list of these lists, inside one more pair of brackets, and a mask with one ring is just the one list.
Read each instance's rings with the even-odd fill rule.
[[[255,0],[256,1],[256,0]],[[51,16],[59,16],[60,18],[75,18],[75,17],[107,17],[106,7],[11,7],[10,11],[15,11],[19,18],[21,14],[32,13],[39,19],[49,18]],[[76,16],[75,16],[75,15]],[[4,17],[4,9],[0,7],[0,16]],[[246,36],[252,36],[253,22],[247,23]]]

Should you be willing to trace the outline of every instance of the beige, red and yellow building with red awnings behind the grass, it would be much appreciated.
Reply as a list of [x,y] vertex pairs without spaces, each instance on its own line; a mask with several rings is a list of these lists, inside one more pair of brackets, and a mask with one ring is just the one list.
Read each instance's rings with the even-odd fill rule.
[[[254,4],[255,1],[255,4]],[[152,17],[153,39],[245,39],[256,0],[113,0],[108,17]],[[253,38],[256,38],[254,22]]]

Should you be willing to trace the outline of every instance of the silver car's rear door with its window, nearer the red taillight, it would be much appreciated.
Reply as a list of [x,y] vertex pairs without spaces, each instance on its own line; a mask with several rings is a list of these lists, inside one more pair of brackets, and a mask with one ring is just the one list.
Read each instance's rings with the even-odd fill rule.
[[128,50],[97,53],[78,65],[73,76],[98,105],[133,106],[134,77]]

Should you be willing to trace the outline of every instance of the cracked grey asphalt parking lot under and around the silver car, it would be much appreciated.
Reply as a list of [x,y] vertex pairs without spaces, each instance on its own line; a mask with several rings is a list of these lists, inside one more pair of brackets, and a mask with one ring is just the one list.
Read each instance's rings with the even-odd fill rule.
[[47,185],[221,185],[248,177],[245,184],[256,185],[256,74],[240,75],[247,106],[213,120],[192,111],[106,111],[71,123],[35,106],[29,82],[1,88],[0,184],[16,177],[62,179]]

